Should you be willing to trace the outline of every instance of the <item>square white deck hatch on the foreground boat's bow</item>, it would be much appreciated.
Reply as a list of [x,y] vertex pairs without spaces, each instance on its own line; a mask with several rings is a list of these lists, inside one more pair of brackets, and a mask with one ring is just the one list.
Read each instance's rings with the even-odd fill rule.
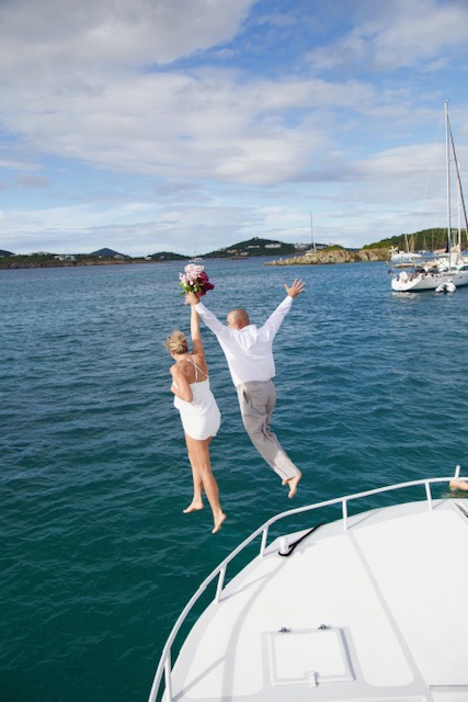
[[274,686],[354,680],[342,629],[282,630],[267,635],[270,678]]

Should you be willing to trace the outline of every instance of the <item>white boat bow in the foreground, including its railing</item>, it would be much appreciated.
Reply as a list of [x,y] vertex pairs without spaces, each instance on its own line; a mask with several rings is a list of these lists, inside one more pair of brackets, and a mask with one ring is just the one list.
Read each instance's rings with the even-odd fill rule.
[[[184,608],[149,702],[466,702],[468,498],[460,485],[468,486],[457,466],[452,477],[270,519]],[[339,518],[330,521],[331,512]],[[307,528],[285,531],[299,516]],[[260,553],[225,585],[228,566],[239,554],[246,563],[258,539]],[[174,641],[209,586],[214,599],[172,669]]]

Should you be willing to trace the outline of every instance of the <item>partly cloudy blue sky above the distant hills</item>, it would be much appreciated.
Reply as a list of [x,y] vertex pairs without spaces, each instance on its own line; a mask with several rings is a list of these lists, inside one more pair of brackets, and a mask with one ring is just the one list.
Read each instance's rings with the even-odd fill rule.
[[467,26],[467,0],[0,0],[0,249],[443,227]]

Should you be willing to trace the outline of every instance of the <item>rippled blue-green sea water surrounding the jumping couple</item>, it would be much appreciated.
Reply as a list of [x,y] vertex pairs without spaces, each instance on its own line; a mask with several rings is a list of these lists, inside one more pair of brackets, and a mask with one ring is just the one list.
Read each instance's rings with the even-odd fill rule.
[[178,614],[212,569],[292,506],[468,474],[468,288],[390,291],[383,263],[207,261],[220,318],[262,324],[307,285],[275,342],[273,428],[304,473],[294,502],[251,446],[224,355],[203,337],[227,513],[195,514],[169,392],[189,331],[180,263],[0,271],[1,702],[146,700]]

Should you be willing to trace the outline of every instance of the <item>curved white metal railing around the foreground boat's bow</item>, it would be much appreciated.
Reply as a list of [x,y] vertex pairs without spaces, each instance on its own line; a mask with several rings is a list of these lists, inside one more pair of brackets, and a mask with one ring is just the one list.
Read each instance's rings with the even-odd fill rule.
[[319,510],[319,509],[323,509],[326,507],[331,507],[333,505],[341,505],[341,512],[342,512],[342,517],[343,517],[343,530],[346,531],[349,529],[349,503],[357,500],[357,499],[363,499],[366,497],[370,497],[373,495],[378,495],[381,492],[390,492],[390,491],[395,491],[395,490],[400,490],[403,488],[409,488],[409,487],[416,487],[416,486],[423,486],[425,489],[425,500],[427,502],[427,509],[432,510],[432,491],[431,491],[431,485],[434,484],[441,484],[441,483],[449,483],[450,480],[458,479],[460,477],[460,466],[457,465],[455,468],[455,474],[453,476],[449,477],[441,477],[441,478],[424,478],[424,479],[419,479],[419,480],[410,480],[407,483],[398,483],[396,485],[388,485],[388,486],[384,486],[384,487],[379,487],[379,488],[373,488],[370,490],[365,490],[363,492],[355,492],[353,495],[346,495],[345,497],[336,497],[330,500],[324,500],[322,502],[316,502],[315,505],[307,505],[305,507],[297,507],[295,509],[289,509],[285,512],[281,512],[279,514],[275,514],[274,517],[272,517],[271,519],[269,519],[262,526],[259,526],[259,529],[256,529],[256,531],[254,531],[252,534],[250,534],[250,536],[248,536],[239,546],[237,546],[237,548],[235,548],[209,575],[207,578],[205,578],[205,580],[202,582],[202,585],[198,587],[198,589],[196,590],[196,592],[192,596],[192,598],[189,600],[189,602],[186,603],[186,605],[184,607],[184,609],[182,610],[181,614],[179,615],[179,619],[176,620],[174,626],[172,627],[172,631],[168,637],[168,641],[165,642],[164,648],[162,650],[161,654],[161,658],[159,661],[159,666],[158,669],[156,671],[156,676],[155,676],[155,680],[151,687],[151,691],[150,691],[150,695],[149,695],[149,702],[156,702],[158,693],[159,693],[159,688],[161,686],[161,681],[162,681],[162,676],[164,675],[164,682],[165,682],[165,698],[164,698],[164,702],[172,702],[173,697],[172,697],[172,684],[171,684],[171,672],[172,672],[172,663],[171,663],[171,652],[172,652],[172,646],[173,643],[175,641],[175,637],[182,626],[182,624],[185,622],[189,613],[191,612],[192,608],[194,607],[194,604],[198,601],[198,599],[202,597],[202,595],[205,592],[206,588],[216,579],[218,578],[218,582],[217,582],[217,587],[216,587],[216,595],[215,595],[215,601],[219,602],[221,600],[221,596],[222,596],[222,589],[224,589],[224,585],[225,585],[225,578],[226,578],[226,571],[227,571],[227,567],[228,565],[236,558],[236,556],[238,556],[250,543],[252,543],[252,541],[254,541],[258,536],[262,536],[261,539],[261,545],[260,545],[260,557],[263,557],[266,551],[266,542],[267,542],[267,537],[269,537],[269,531],[270,528],[275,524],[276,522],[286,519],[287,517],[293,517],[295,514],[300,514],[303,512],[309,512],[309,511],[313,511],[313,510]]

